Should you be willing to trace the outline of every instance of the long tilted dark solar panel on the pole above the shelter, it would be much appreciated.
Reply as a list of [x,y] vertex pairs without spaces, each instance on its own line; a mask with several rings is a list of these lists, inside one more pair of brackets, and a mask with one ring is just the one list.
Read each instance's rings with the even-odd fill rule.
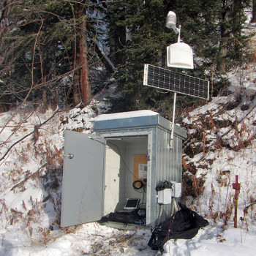
[[145,64],[143,85],[192,97],[209,99],[208,80],[173,72],[150,64]]

